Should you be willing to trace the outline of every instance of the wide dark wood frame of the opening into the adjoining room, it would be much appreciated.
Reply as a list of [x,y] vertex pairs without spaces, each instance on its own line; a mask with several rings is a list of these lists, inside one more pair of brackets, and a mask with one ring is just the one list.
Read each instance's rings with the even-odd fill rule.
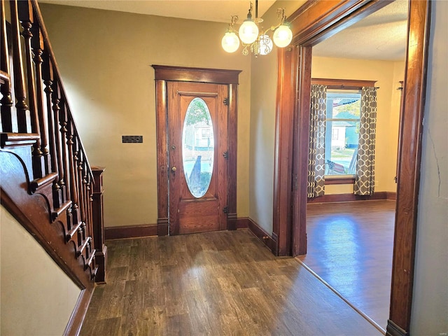
[[[274,223],[278,255],[307,252],[307,156],[311,48],[391,1],[309,1],[288,18],[293,47],[277,54]],[[400,120],[397,204],[387,335],[409,335],[430,1],[410,0]]]

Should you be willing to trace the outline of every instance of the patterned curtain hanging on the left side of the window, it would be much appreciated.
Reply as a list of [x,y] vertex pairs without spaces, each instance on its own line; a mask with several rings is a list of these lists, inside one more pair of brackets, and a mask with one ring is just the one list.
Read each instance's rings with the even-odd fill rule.
[[325,191],[325,114],[327,87],[311,85],[309,121],[308,197],[323,195]]

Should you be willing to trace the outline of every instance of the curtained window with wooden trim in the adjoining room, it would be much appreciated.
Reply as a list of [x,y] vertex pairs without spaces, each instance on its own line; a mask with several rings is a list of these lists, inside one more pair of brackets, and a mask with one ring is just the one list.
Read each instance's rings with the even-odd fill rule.
[[[353,190],[356,187],[358,193],[359,186],[370,186],[370,180],[373,181],[375,83],[374,80],[311,78],[308,197],[323,195],[326,184],[354,183]],[[360,120],[361,103],[363,120]],[[358,160],[359,157],[363,160]]]

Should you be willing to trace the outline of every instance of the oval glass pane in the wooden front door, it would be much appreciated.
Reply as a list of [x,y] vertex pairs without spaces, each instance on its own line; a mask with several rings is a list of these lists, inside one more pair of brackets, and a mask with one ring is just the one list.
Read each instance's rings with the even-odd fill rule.
[[207,193],[213,172],[215,140],[209,108],[196,97],[187,108],[182,130],[183,172],[190,193],[200,198]]

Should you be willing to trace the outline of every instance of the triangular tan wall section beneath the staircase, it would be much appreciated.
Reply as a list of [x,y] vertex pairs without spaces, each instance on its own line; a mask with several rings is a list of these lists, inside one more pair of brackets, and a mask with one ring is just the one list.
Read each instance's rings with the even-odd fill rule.
[[80,289],[0,206],[1,335],[62,335]]

